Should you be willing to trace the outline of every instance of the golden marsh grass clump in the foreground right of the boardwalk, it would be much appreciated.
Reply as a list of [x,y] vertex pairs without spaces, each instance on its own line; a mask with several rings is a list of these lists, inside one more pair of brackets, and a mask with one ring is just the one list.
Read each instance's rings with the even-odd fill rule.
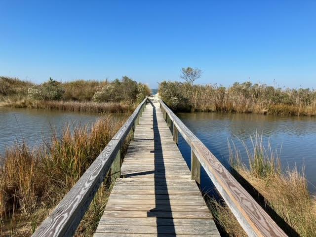
[[[282,172],[276,152],[270,146],[265,148],[258,134],[252,142],[252,148],[243,144],[249,160],[247,166],[241,162],[236,147],[230,147],[235,178],[288,236],[316,236],[316,197],[308,191],[304,172],[296,168]],[[209,204],[223,232],[232,237],[247,236],[225,203],[211,199]]]

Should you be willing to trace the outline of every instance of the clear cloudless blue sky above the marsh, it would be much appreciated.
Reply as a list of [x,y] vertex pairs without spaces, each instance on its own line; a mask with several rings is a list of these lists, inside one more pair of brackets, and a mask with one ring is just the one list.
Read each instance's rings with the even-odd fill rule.
[[0,0],[0,75],[316,88],[316,1]]

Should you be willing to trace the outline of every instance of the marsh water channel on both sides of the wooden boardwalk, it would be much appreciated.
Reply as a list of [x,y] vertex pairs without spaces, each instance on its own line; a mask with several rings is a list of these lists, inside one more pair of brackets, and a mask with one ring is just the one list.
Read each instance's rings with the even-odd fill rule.
[[[242,159],[248,158],[240,140],[251,147],[250,135],[258,133],[267,146],[277,152],[282,168],[299,170],[305,166],[309,189],[316,193],[316,118],[282,117],[256,114],[179,113],[179,118],[192,130],[206,147],[228,166],[228,141],[234,141]],[[121,117],[123,115],[114,115]],[[0,108],[0,156],[15,142],[25,141],[33,148],[43,140],[49,140],[52,128],[61,134],[67,124],[92,124],[99,118],[96,114],[36,109]],[[190,166],[190,147],[180,137],[179,148]],[[210,181],[202,171],[202,188],[211,189]]]

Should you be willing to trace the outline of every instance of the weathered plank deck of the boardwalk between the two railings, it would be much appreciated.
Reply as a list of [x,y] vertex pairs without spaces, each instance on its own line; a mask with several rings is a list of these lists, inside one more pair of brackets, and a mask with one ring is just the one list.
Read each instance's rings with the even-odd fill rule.
[[121,177],[95,237],[219,237],[154,98],[136,127]]

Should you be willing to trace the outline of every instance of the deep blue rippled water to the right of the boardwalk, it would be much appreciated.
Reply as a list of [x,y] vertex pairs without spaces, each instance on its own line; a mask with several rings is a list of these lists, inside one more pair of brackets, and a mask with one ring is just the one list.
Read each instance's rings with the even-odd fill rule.
[[[180,113],[178,116],[226,165],[229,159],[228,140],[234,140],[247,162],[245,150],[236,137],[251,146],[249,136],[258,130],[263,134],[264,144],[267,145],[270,140],[272,148],[280,153],[283,168],[296,165],[301,170],[305,164],[309,188],[316,193],[316,118],[217,113]],[[182,138],[179,148],[190,163],[191,150]],[[201,182],[204,190],[211,189],[205,172],[202,172]]]

